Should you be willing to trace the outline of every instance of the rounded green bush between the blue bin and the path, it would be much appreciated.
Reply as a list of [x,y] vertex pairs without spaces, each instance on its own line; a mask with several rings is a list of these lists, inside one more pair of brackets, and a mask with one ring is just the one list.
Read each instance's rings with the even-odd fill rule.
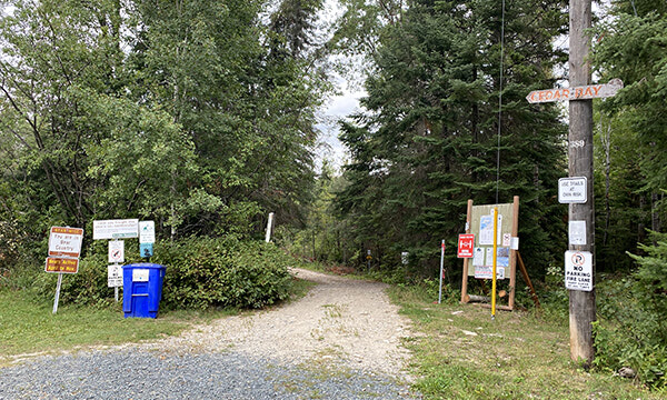
[[265,242],[191,238],[156,247],[153,261],[167,267],[170,308],[261,308],[290,293],[291,258]]

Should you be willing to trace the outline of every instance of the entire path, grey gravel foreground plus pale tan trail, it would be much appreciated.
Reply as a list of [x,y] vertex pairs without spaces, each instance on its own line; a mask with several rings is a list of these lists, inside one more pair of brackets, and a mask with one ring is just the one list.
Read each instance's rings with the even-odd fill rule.
[[301,300],[150,343],[0,369],[0,399],[404,399],[409,322],[386,286],[307,270]]

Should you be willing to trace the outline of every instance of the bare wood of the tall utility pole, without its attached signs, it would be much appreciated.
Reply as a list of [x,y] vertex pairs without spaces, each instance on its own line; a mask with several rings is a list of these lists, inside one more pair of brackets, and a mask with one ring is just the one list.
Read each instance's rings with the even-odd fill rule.
[[[569,1],[569,84],[590,84],[591,0]],[[595,218],[593,197],[593,100],[569,102],[568,160],[570,177],[586,177],[587,201],[569,204],[570,221],[586,221],[586,244],[569,246],[570,250],[595,254]],[[595,279],[595,259],[593,260]],[[595,281],[595,280],[594,280]],[[595,321],[595,288],[591,291],[569,290],[570,357],[590,364],[594,358],[593,322]]]

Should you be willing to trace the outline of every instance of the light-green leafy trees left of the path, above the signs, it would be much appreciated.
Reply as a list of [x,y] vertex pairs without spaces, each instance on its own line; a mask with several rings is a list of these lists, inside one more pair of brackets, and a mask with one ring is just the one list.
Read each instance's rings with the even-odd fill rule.
[[321,3],[286,0],[272,22],[259,1],[2,4],[0,220],[14,237],[113,218],[252,234],[267,210],[301,223],[328,90]]

